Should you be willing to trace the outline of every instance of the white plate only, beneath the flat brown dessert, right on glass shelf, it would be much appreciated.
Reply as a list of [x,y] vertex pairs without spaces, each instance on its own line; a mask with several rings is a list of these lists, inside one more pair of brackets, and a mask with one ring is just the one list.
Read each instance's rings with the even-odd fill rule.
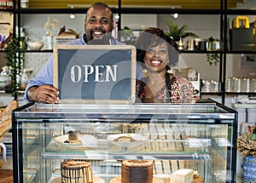
[[[128,135],[130,135],[131,138],[136,141],[133,141],[133,142],[114,141],[114,140],[118,139],[119,137],[128,136]],[[109,141],[111,141],[111,143],[113,143],[116,146],[139,146],[139,145],[145,143],[145,141],[148,140],[148,137],[143,136],[142,134],[110,134],[110,135],[108,135],[107,139]]]

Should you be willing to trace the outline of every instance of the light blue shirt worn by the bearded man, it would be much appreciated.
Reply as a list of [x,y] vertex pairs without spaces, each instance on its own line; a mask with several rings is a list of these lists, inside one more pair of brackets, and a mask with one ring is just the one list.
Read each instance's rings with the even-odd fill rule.
[[[117,40],[115,40],[113,37],[111,37],[110,42],[112,45],[114,44],[124,44],[120,43]],[[69,43],[69,45],[86,45],[84,42],[83,37],[79,39],[75,39]],[[143,72],[141,71],[140,66],[137,65],[137,71],[136,71],[136,78],[141,79],[143,77]],[[40,69],[37,76],[33,79],[29,80],[26,85],[26,90],[24,94],[24,98],[26,102],[29,102],[27,98],[27,90],[30,89],[32,86],[40,86],[40,85],[53,85],[53,55],[49,57],[49,60],[44,64],[44,66]]]

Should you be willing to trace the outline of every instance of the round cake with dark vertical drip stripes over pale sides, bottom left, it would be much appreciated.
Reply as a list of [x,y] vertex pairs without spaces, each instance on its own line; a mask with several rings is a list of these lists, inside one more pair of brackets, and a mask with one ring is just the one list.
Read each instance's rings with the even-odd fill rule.
[[90,163],[69,159],[61,163],[61,183],[93,183]]

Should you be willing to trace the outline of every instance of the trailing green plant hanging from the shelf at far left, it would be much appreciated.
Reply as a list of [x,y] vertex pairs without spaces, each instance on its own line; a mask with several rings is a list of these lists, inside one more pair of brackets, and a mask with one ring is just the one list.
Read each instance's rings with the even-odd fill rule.
[[9,92],[17,100],[19,89],[19,76],[23,68],[26,52],[26,37],[12,37],[5,47],[6,64],[9,66],[11,85]]

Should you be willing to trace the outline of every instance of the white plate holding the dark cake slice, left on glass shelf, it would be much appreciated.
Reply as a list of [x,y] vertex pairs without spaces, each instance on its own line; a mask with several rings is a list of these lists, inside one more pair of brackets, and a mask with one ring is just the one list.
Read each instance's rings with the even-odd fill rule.
[[[96,137],[90,135],[90,134],[79,134],[78,139],[86,139],[86,141],[91,142],[91,141],[96,141]],[[63,146],[68,146],[68,147],[82,147],[83,144],[86,143],[65,143],[65,141],[68,140],[68,134],[64,134],[61,136],[55,137],[55,142],[60,143]],[[82,141],[82,140],[81,140]]]

